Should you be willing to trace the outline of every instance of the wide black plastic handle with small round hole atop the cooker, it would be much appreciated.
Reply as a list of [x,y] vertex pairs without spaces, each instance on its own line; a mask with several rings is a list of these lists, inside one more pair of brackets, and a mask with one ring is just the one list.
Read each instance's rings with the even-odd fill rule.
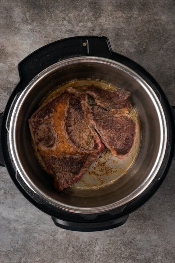
[[107,37],[80,36],[52,42],[23,59],[18,70],[23,89],[42,70],[52,64],[77,56],[99,56],[114,59]]

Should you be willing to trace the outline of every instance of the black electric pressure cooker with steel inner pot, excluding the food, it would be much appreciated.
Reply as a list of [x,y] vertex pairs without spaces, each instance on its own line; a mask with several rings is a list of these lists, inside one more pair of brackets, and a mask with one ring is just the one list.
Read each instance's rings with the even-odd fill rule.
[[[20,82],[0,116],[1,166],[21,193],[61,228],[99,231],[124,224],[157,191],[175,156],[175,107],[142,66],[112,51],[106,37],[50,43],[22,60],[18,70]],[[34,155],[28,119],[51,90],[72,79],[98,79],[131,92],[140,118],[140,148],[113,184],[58,193]]]

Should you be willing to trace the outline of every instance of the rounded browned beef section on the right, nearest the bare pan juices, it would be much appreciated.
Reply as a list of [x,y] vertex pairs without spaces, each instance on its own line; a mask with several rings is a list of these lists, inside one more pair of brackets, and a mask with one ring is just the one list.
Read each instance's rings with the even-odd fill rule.
[[92,124],[114,156],[125,158],[136,140],[137,125],[128,114],[91,106]]

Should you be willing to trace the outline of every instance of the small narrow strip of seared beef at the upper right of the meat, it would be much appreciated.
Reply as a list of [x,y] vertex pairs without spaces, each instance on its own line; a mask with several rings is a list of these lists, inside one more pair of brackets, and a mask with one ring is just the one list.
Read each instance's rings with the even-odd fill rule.
[[126,113],[128,113],[128,111],[130,110],[131,104],[128,100],[128,98],[131,95],[130,91],[104,90],[92,85],[88,88],[86,93],[91,95],[92,98],[94,98],[97,105],[102,106],[107,110],[120,109],[122,112],[126,112]]

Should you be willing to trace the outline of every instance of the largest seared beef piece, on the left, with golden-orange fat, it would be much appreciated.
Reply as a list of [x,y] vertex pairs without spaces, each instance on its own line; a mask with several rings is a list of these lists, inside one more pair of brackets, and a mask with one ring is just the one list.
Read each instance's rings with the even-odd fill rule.
[[104,149],[88,122],[86,100],[68,88],[29,119],[37,156],[59,191],[78,181]]

